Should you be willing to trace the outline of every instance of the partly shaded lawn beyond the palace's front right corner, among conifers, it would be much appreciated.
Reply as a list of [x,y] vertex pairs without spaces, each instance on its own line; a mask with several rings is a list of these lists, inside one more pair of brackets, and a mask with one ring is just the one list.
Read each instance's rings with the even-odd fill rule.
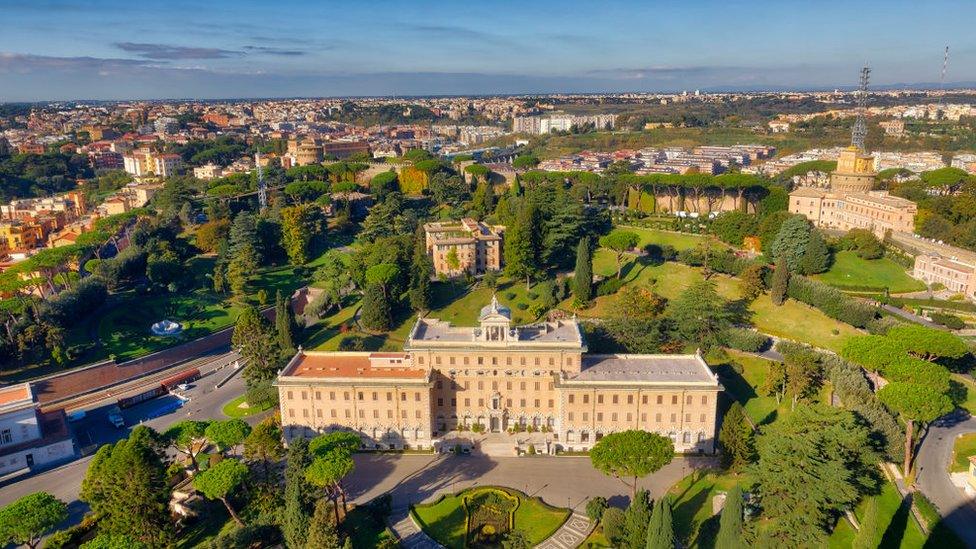
[[712,515],[712,498],[736,484],[747,490],[746,476],[699,471],[679,480],[668,490],[674,498],[674,530],[684,547],[713,547],[718,534],[718,515]]

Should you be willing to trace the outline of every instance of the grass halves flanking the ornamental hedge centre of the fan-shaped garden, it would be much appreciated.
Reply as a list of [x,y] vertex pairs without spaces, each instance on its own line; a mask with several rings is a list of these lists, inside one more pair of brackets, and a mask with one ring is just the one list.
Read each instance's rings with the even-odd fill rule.
[[458,494],[445,495],[434,503],[414,506],[411,513],[424,532],[438,543],[451,549],[463,548],[467,521],[462,500],[485,490],[500,490],[518,498],[514,528],[525,532],[532,545],[551,536],[570,515],[568,509],[552,507],[541,499],[530,498],[518,490],[494,487],[469,488]]

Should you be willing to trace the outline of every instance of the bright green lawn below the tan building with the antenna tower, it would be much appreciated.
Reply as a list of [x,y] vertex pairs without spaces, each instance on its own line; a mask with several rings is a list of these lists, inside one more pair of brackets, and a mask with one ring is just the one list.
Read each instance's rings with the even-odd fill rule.
[[914,292],[925,289],[925,284],[908,276],[904,267],[888,258],[861,259],[850,251],[834,254],[834,264],[826,273],[815,275],[831,286],[838,288],[873,288],[891,293]]

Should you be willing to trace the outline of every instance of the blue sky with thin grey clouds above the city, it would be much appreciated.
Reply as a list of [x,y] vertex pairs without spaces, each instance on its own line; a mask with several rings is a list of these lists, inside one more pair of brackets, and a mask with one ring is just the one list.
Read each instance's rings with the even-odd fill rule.
[[0,102],[976,81],[972,0],[0,0]]

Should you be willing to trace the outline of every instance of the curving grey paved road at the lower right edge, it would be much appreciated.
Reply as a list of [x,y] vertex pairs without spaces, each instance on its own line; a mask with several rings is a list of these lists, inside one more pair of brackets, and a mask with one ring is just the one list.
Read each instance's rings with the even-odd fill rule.
[[946,525],[968,547],[976,547],[976,507],[949,480],[948,465],[956,437],[976,432],[976,418],[957,418],[933,424],[918,453],[916,485],[939,508]]

